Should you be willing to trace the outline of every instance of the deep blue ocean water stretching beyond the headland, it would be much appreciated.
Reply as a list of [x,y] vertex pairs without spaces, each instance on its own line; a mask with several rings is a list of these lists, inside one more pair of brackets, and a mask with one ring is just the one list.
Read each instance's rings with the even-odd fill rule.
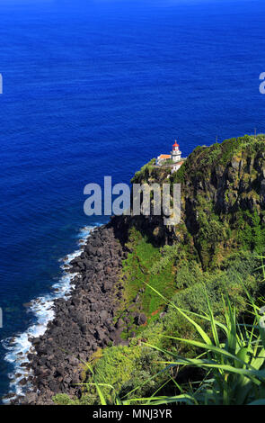
[[[2,339],[76,249],[84,184],[128,183],[173,139],[265,131],[263,0],[2,0]],[[0,347],[0,395],[8,391]]]

